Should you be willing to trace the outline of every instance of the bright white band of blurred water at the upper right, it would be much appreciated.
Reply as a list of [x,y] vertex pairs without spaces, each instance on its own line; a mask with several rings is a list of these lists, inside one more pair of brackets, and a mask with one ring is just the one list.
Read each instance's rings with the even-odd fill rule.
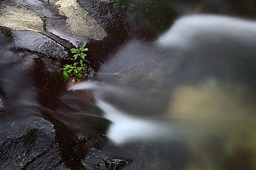
[[[178,19],[173,26],[161,35],[157,44],[159,47],[178,47],[185,50],[203,43],[222,44],[221,40],[254,46],[256,42],[256,21],[220,15],[191,15]],[[223,44],[227,46],[227,44]],[[188,49],[187,49],[188,48]],[[215,47],[213,47],[215,48]],[[234,49],[235,50],[235,49]]]

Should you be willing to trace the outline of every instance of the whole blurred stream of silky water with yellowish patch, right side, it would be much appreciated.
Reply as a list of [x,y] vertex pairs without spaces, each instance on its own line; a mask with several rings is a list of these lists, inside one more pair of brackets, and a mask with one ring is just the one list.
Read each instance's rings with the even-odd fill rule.
[[120,48],[97,74],[103,85],[71,89],[95,91],[119,144],[155,138],[168,151],[179,141],[190,153],[185,170],[253,170],[255,30],[255,21],[239,18],[181,17],[155,42]]

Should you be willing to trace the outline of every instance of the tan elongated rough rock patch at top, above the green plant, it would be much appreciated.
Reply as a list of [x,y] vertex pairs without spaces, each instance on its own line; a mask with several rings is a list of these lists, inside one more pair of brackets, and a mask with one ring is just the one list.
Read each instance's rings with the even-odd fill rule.
[[59,0],[54,6],[60,15],[67,17],[66,25],[73,34],[96,40],[107,36],[104,29],[76,0]]

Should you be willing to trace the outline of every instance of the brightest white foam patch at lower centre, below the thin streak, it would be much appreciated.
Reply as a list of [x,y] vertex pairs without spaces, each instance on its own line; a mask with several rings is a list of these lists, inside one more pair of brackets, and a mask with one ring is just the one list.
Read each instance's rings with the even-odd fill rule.
[[145,139],[153,140],[158,137],[168,137],[171,134],[171,129],[164,123],[127,115],[100,100],[97,105],[104,111],[104,117],[112,122],[107,136],[117,144]]

